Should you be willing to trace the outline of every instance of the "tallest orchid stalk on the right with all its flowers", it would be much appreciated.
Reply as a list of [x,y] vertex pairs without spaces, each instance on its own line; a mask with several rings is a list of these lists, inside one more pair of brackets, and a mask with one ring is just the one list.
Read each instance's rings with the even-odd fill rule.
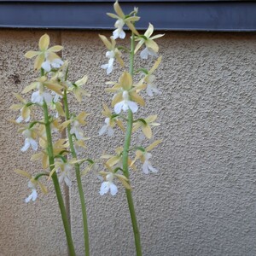
[[[154,147],[156,147],[161,141],[156,140],[154,143],[151,143],[148,147],[144,148],[143,146],[135,146],[131,148],[131,136],[132,133],[135,133],[138,130],[143,132],[143,136],[139,134],[139,140],[142,140],[142,137],[148,139],[152,138],[152,126],[160,125],[155,123],[154,120],[157,118],[157,115],[150,115],[147,118],[137,118],[134,119],[134,114],[137,113],[138,105],[144,106],[145,102],[143,97],[139,93],[143,90],[146,90],[148,96],[154,96],[154,94],[160,94],[160,90],[157,89],[154,84],[155,76],[154,71],[160,65],[161,57],[159,57],[155,62],[153,67],[149,70],[144,67],[138,67],[135,69],[135,55],[138,50],[145,45],[145,48],[141,51],[140,56],[142,59],[148,59],[148,55],[155,57],[159,51],[159,46],[154,42],[154,39],[160,38],[163,35],[156,35],[151,37],[154,32],[154,26],[149,23],[148,30],[142,35],[137,32],[135,23],[140,18],[137,16],[137,9],[134,9],[129,15],[125,15],[123,10],[120,8],[119,3],[116,2],[113,5],[113,9],[116,14],[108,14],[110,17],[117,19],[114,26],[115,30],[113,31],[113,36],[108,40],[105,36],[100,35],[102,42],[106,45],[108,52],[106,56],[108,57],[108,64],[102,65],[102,68],[107,70],[107,74],[113,71],[113,63],[116,59],[121,67],[125,67],[125,63],[122,59],[121,51],[123,50],[130,55],[130,65],[129,72],[124,71],[117,83],[108,82],[107,84],[113,84],[112,88],[108,88],[108,92],[113,92],[112,107],[113,112],[104,104],[103,115],[106,117],[105,124],[102,126],[102,129],[99,131],[99,135],[107,133],[108,136],[113,136],[114,125],[118,125],[122,131],[125,131],[125,142],[123,147],[117,148],[116,154],[114,155],[103,155],[103,159],[107,159],[104,163],[104,166],[108,171],[102,171],[100,174],[104,178],[102,183],[100,194],[104,195],[110,190],[111,195],[116,195],[118,189],[117,186],[113,183],[114,178],[119,179],[119,181],[125,187],[126,198],[131,214],[131,223],[134,232],[135,245],[137,250],[137,255],[142,255],[140,234],[137,225],[136,212],[132,201],[131,195],[131,183],[129,180],[130,177],[130,168],[136,169],[135,163],[137,160],[143,162],[143,172],[148,174],[151,172],[157,172],[149,159],[152,157],[152,154],[149,153]],[[120,46],[117,44],[117,38],[124,39],[125,32],[123,26],[128,26],[131,30],[131,47],[130,49],[125,46]],[[135,44],[137,43],[137,46]],[[137,83],[133,81],[136,79],[136,74],[143,73],[143,78],[139,79]],[[126,125],[124,125],[126,122]],[[131,160],[130,154],[135,151],[135,158]]]

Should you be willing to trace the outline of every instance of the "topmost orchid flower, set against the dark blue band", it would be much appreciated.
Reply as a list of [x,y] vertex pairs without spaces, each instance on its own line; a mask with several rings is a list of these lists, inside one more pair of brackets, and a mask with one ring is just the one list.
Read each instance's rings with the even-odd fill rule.
[[116,15],[109,14],[109,13],[107,14],[111,18],[117,19],[116,22],[114,23],[114,27],[116,29],[113,31],[113,38],[114,39],[116,39],[116,38],[124,39],[125,38],[125,32],[123,30],[123,26],[125,24],[131,29],[132,32],[134,32],[136,35],[139,35],[135,26],[132,24],[133,22],[140,19],[140,17],[136,16],[137,9],[134,9],[134,11],[132,11],[131,14],[129,14],[129,15],[125,15],[123,10],[119,6],[118,1],[116,1],[113,4],[113,9],[114,9]]

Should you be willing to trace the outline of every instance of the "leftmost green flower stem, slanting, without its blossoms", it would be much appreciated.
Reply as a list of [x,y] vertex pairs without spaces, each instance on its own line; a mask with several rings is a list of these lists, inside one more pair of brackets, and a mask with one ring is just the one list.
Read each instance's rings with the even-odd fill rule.
[[[51,131],[50,131],[48,107],[47,107],[47,104],[45,101],[43,104],[43,108],[44,108],[44,125],[45,125],[45,131],[46,131],[46,137],[47,137],[47,143],[48,143],[49,169],[50,169],[50,171],[52,171],[54,168],[55,158],[54,158],[53,143],[52,143]],[[57,200],[59,202],[59,207],[61,210],[61,218],[62,218],[62,222],[64,225],[64,230],[65,230],[65,233],[67,236],[67,246],[69,249],[69,253],[71,256],[75,256],[76,253],[75,253],[75,250],[73,247],[73,239],[72,239],[72,235],[71,235],[71,229],[70,229],[70,226],[68,223],[65,205],[64,205],[64,201],[63,201],[63,198],[61,195],[60,183],[59,183],[57,174],[55,172],[52,175],[52,180],[53,180],[53,183],[55,186],[55,192],[56,192]]]

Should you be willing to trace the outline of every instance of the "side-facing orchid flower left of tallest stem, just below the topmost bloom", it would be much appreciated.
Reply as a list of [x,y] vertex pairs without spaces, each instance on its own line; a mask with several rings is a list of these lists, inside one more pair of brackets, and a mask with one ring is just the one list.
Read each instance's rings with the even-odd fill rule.
[[105,36],[99,35],[99,37],[102,39],[103,44],[106,45],[108,51],[106,53],[106,57],[109,59],[107,64],[102,65],[101,67],[103,69],[106,69],[107,74],[111,73],[113,71],[113,61],[116,58],[117,61],[119,61],[119,64],[121,67],[125,66],[124,61],[121,58],[121,52],[116,47],[116,42],[113,37],[110,38],[110,41],[108,41],[108,38]]

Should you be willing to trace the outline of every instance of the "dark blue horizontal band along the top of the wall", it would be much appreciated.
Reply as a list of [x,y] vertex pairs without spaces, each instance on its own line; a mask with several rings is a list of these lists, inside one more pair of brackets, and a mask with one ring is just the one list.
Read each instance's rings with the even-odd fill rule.
[[[137,27],[150,21],[158,30],[170,31],[256,31],[254,1],[119,1],[129,13],[139,8]],[[3,1],[0,27],[113,29],[113,1]]]

